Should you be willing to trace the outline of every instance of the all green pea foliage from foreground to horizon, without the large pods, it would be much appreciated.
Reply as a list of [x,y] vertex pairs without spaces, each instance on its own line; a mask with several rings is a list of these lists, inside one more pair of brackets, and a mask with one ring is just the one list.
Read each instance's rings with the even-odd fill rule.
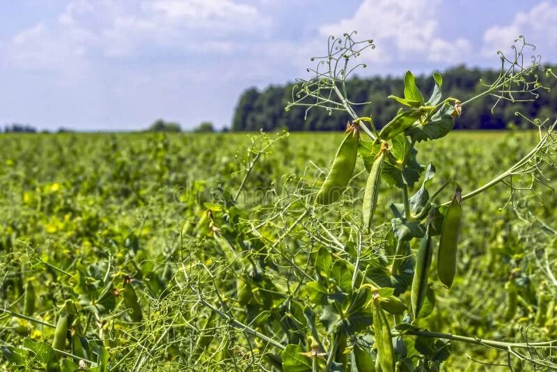
[[[340,63],[358,50],[351,38],[334,39],[347,42]],[[1,136],[0,369],[554,368],[554,123],[487,135],[447,125],[470,102],[520,94],[501,88],[537,87],[516,61],[472,101],[441,95],[439,77],[424,95],[407,74],[389,124],[343,111],[359,158],[327,205],[315,196],[345,134]],[[344,79],[300,84],[322,94]],[[433,269],[453,200],[448,290]],[[434,254],[412,304],[424,235]]]

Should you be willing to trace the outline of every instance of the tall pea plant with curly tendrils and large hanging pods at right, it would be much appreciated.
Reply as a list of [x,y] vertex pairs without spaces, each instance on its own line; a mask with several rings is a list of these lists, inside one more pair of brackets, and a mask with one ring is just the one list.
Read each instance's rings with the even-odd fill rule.
[[[389,123],[375,123],[372,113],[356,114],[369,102],[352,102],[345,88],[354,71],[366,68],[359,63],[361,54],[375,48],[372,40],[359,42],[354,36],[329,38],[327,55],[312,59],[316,67],[308,68],[314,76],[298,80],[286,107],[347,116],[344,138],[329,171],[322,172],[327,173],[322,183],[300,181],[295,192],[278,197],[261,222],[234,206],[212,206],[208,212],[226,265],[203,268],[214,288],[190,288],[198,304],[210,309],[201,329],[214,330],[215,319],[221,318],[235,330],[213,355],[220,353],[219,360],[233,360],[235,366],[242,360],[244,368],[257,364],[267,370],[438,371],[454,343],[467,343],[503,352],[501,365],[510,369],[514,359],[536,369],[556,368],[554,341],[487,340],[424,327],[435,316],[436,296],[458,286],[466,201],[499,184],[510,187],[510,199],[520,191],[533,192],[519,180],[544,185],[544,166],[555,167],[557,121],[524,116],[538,131],[538,144],[468,191],[461,188],[465,180],[457,170],[435,189],[437,169],[432,162],[418,162],[418,148],[450,133],[474,100],[490,99],[494,110],[501,102],[538,98],[545,89],[538,79],[540,59],[524,55],[535,47],[520,37],[512,56],[499,52],[499,77],[481,82],[483,91],[471,98],[444,97],[437,72],[426,98],[408,71],[403,95],[389,97],[400,109]],[[362,171],[356,171],[359,158]],[[362,173],[368,174],[365,186],[354,196],[351,183]],[[378,212],[382,195],[389,198],[382,200],[390,203],[390,218]],[[222,288],[230,279],[235,285]],[[198,346],[207,345],[203,337]],[[207,365],[211,360],[211,355],[199,359]]]

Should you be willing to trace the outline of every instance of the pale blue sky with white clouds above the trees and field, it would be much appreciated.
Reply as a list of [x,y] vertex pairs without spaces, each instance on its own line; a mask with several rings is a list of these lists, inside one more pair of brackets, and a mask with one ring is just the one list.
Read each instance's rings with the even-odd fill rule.
[[519,34],[557,62],[557,0],[0,0],[0,126],[229,126],[353,30],[376,45],[361,76],[497,68]]

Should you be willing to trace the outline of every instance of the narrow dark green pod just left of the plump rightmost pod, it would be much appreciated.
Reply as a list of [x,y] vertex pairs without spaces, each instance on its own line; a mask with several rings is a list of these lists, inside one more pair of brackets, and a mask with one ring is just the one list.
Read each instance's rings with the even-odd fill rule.
[[425,235],[422,238],[418,254],[416,255],[416,268],[412,280],[411,304],[414,318],[419,318],[420,310],[427,294],[427,277],[430,273],[433,249],[431,244],[430,225],[427,225]]

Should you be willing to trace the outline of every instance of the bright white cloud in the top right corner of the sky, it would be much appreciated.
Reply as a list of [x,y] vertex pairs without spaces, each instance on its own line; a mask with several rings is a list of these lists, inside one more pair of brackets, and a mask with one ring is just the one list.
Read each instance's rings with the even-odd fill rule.
[[483,35],[482,54],[493,56],[494,51],[506,51],[510,42],[519,35],[524,35],[526,40],[543,42],[544,49],[540,50],[543,56],[554,59],[557,57],[557,4],[542,1],[529,12],[519,12],[515,18],[503,26],[492,26]]

